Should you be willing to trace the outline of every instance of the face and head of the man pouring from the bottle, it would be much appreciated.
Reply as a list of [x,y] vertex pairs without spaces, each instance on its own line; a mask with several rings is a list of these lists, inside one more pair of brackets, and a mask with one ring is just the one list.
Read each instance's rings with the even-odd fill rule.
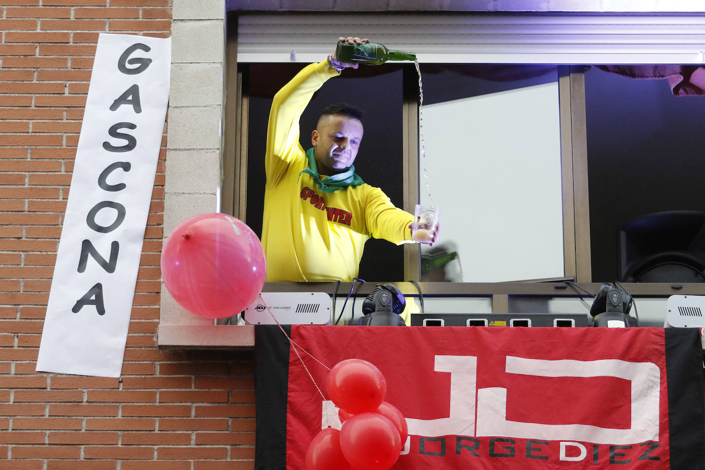
[[321,175],[333,175],[353,164],[362,141],[360,120],[342,114],[327,114],[311,134]]

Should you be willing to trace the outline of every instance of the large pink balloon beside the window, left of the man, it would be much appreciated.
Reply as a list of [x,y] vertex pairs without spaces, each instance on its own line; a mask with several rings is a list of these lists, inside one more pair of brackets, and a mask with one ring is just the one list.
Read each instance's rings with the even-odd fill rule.
[[167,237],[161,276],[181,307],[222,319],[243,311],[262,291],[264,249],[243,221],[226,214],[199,214]]

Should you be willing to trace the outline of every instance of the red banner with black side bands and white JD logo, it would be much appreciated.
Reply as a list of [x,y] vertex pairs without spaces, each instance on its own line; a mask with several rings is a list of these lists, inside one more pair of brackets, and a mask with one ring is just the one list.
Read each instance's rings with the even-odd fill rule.
[[[393,469],[701,468],[702,351],[697,329],[682,330],[293,326],[293,342],[308,353],[299,355],[281,330],[268,330],[270,343],[287,346],[286,424],[278,425],[286,468],[304,469],[314,435],[340,428],[321,392],[328,399],[326,367],[350,358],[380,369],[385,400],[407,420]],[[257,449],[268,349],[260,336]],[[674,409],[683,400],[692,408]],[[685,466],[683,451],[692,456]]]

